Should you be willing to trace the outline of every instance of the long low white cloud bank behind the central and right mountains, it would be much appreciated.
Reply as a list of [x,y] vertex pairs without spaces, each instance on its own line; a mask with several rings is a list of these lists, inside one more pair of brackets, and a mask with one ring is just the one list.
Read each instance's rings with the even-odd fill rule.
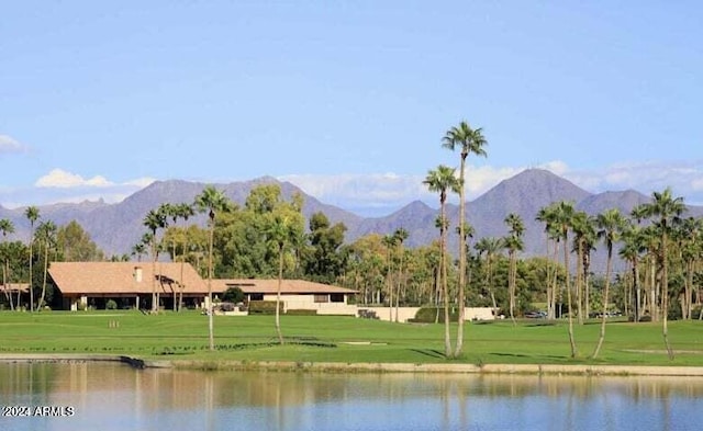
[[[467,200],[471,201],[528,167],[468,166],[466,171]],[[658,162],[621,163],[604,169],[572,169],[561,160],[538,166],[563,177],[591,192],[633,189],[646,195],[671,186],[689,204],[703,203],[703,167],[695,162],[666,165]],[[290,181],[324,203],[333,204],[362,215],[387,215],[392,211],[421,200],[436,207],[437,196],[424,186],[424,174],[293,174],[280,177]],[[456,195],[450,195],[454,203]]]

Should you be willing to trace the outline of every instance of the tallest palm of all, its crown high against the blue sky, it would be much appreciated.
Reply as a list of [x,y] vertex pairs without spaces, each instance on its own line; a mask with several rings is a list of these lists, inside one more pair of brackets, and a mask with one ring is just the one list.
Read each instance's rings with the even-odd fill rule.
[[[471,128],[467,122],[460,122],[458,126],[451,127],[442,139],[442,146],[454,151],[459,147],[460,168],[459,168],[459,238],[464,239],[464,222],[466,220],[466,195],[465,195],[465,171],[466,159],[469,154],[486,157],[484,147],[488,141],[483,137],[481,127]],[[464,290],[466,288],[466,246],[464,240],[459,241],[459,326],[457,327],[457,348],[455,356],[461,354],[464,348]]]

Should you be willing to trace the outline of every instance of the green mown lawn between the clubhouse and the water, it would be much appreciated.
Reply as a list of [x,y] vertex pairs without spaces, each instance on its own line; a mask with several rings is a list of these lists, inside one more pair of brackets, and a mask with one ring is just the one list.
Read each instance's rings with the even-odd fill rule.
[[[198,313],[147,316],[135,311],[0,313],[2,353],[104,353],[161,360],[445,363],[442,325],[392,324],[353,317],[282,316],[286,345],[277,345],[272,316],[215,316],[209,352],[208,319]],[[456,328],[453,328],[453,336]],[[598,360],[589,359],[600,324],[576,325],[579,358],[570,358],[565,321],[467,324],[471,364],[632,364],[703,366],[703,322],[672,321],[669,361],[659,324],[613,321]]]

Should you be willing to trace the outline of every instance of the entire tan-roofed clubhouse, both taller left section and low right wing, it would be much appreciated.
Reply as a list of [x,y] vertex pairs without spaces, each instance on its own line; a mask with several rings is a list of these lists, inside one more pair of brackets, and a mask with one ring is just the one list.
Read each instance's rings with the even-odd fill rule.
[[[155,270],[155,272],[154,272]],[[49,275],[62,297],[63,309],[105,308],[112,299],[119,308],[152,307],[156,290],[160,307],[171,309],[182,294],[187,307],[208,304],[208,281],[189,263],[156,262],[52,262]],[[249,300],[276,300],[278,280],[212,280],[214,299],[230,287],[239,287]],[[356,316],[348,305],[356,291],[303,280],[283,280],[283,310],[314,309],[317,314]]]

